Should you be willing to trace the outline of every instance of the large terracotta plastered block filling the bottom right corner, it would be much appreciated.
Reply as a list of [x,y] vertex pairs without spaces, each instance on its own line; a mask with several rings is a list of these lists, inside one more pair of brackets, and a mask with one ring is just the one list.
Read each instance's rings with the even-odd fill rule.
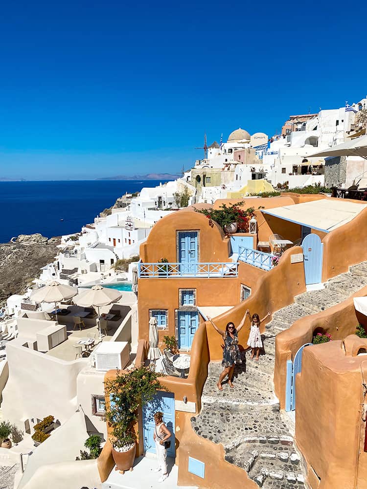
[[[353,338],[358,341],[356,336],[349,336],[345,342]],[[361,343],[367,347],[367,340]],[[318,484],[312,475],[312,488],[367,487],[363,446],[358,454],[366,424],[361,419],[364,379],[366,357],[346,355],[340,341],[303,351],[302,371],[296,380],[296,441],[308,473],[312,474],[313,468],[321,478]]]

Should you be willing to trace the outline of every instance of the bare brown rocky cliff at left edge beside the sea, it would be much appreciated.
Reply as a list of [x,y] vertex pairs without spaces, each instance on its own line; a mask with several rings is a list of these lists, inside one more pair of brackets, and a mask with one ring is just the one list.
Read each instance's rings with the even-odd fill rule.
[[41,235],[20,236],[15,243],[0,244],[0,304],[21,294],[38,277],[41,267],[54,260],[59,239]]

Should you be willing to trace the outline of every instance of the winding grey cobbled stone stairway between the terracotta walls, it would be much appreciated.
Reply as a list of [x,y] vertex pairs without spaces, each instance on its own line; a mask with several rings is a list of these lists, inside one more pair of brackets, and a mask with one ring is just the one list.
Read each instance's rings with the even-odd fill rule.
[[249,353],[243,356],[234,372],[234,389],[225,382],[219,391],[221,364],[209,364],[202,410],[191,418],[191,425],[199,436],[221,443],[226,460],[246,470],[259,487],[305,487],[289,422],[279,411],[273,390],[276,334],[301,317],[339,304],[366,285],[367,262],[363,262],[329,280],[325,289],[304,292],[295,297],[294,304],[276,311],[263,335],[263,355],[258,362]]

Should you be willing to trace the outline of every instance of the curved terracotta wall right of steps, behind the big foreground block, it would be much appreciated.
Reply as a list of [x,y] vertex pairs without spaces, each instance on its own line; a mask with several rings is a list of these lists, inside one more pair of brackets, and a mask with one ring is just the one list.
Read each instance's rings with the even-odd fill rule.
[[367,295],[367,287],[332,308],[299,319],[288,330],[276,336],[274,388],[282,409],[285,406],[287,360],[293,360],[302,345],[312,342],[317,328],[330,333],[333,339],[343,339],[348,334],[355,333],[358,323],[366,323],[366,317],[356,313],[353,305],[353,297],[362,295]]

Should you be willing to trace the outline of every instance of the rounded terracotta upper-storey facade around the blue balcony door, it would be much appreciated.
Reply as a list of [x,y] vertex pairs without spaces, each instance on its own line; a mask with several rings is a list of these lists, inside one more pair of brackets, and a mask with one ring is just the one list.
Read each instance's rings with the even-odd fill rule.
[[152,228],[145,243],[140,245],[140,258],[145,263],[156,263],[167,258],[176,263],[177,231],[199,231],[199,262],[228,262],[230,254],[229,239],[222,229],[199,212],[178,211],[161,219]]

